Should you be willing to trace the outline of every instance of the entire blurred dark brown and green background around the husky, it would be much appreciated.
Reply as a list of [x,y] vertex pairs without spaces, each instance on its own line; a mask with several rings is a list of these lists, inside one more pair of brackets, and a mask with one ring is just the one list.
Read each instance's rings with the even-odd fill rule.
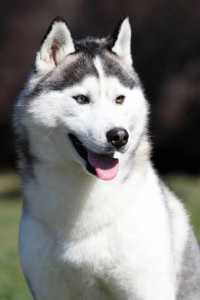
[[51,20],[75,38],[106,35],[128,13],[132,55],[151,104],[152,161],[185,202],[200,241],[200,1],[0,1],[0,300],[31,299],[19,266],[22,195],[10,130],[12,103]]

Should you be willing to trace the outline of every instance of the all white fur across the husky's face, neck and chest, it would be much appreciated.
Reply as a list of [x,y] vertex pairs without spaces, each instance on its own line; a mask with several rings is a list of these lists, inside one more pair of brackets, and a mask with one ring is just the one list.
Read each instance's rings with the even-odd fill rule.
[[[34,165],[36,180],[24,183],[29,212],[20,223],[23,271],[37,300],[175,300],[187,216],[171,194],[170,231],[157,175],[142,156],[145,140],[126,178],[128,157],[146,125],[145,99],[139,87],[130,90],[105,77],[99,57],[94,64],[99,79],[42,93],[21,120],[40,161]],[[88,105],[72,98],[88,92]],[[120,94],[125,100],[117,105]],[[103,181],[82,170],[85,162],[67,133],[100,152],[106,131],[116,126],[126,128],[130,140],[126,152],[116,154],[117,176]]]

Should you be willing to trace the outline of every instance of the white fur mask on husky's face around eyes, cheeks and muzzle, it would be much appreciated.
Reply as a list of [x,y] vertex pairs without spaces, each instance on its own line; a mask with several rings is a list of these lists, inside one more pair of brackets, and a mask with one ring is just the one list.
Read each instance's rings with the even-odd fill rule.
[[[63,165],[66,158],[82,161],[73,146],[68,145],[67,132],[74,132],[83,144],[89,144],[89,149],[95,152],[102,151],[103,143],[106,142],[106,132],[113,127],[124,127],[130,134],[126,147],[131,143],[132,149],[137,144],[146,123],[147,108],[143,93],[139,87],[133,90],[124,87],[117,78],[103,79],[99,59],[94,59],[99,72],[99,82],[95,77],[87,77],[81,85],[63,92],[42,93],[30,103],[27,114],[21,121],[29,132],[31,147],[39,159],[53,160],[53,163],[56,160],[57,165]],[[88,91],[90,105],[80,105],[72,98],[73,95],[87,94]],[[115,103],[115,98],[120,94],[125,96],[123,105]],[[38,131],[37,124],[42,130]],[[134,131],[130,132],[132,126]],[[47,135],[51,138],[46,139]],[[62,155],[60,151],[63,151]],[[84,166],[83,161],[82,163]]]

